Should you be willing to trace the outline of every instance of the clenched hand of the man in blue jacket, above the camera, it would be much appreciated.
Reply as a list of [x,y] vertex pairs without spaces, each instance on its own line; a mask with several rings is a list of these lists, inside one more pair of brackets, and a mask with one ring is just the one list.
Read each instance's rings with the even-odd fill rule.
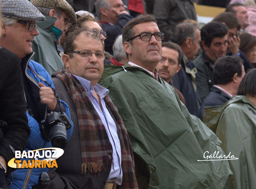
[[46,87],[42,83],[38,83],[40,87],[39,95],[41,99],[42,104],[46,104],[48,107],[48,110],[52,111],[57,105],[57,99],[54,95],[54,92],[52,91],[52,88]]

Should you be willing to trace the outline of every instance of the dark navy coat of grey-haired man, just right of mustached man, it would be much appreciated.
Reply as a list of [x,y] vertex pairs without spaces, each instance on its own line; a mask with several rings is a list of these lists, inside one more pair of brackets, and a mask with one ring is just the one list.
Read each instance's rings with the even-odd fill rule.
[[[197,91],[194,90],[191,75],[189,73],[186,73],[185,71],[185,64],[183,59],[181,60],[180,65],[181,65],[180,71],[176,73],[172,78],[173,85],[184,96],[186,101],[186,107],[188,108],[188,111],[190,112],[190,114],[194,116],[198,116],[199,107],[201,103],[199,94]],[[186,64],[186,67],[188,67],[191,70],[195,66],[190,60]]]

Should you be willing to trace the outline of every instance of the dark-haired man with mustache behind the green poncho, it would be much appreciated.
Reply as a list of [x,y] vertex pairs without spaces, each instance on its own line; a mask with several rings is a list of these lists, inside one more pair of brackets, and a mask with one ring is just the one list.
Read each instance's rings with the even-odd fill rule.
[[179,45],[172,42],[162,43],[162,59],[156,66],[156,70],[158,71],[159,76],[175,89],[183,104],[186,104],[184,96],[172,85],[172,77],[174,77],[181,68],[181,57],[182,52]]

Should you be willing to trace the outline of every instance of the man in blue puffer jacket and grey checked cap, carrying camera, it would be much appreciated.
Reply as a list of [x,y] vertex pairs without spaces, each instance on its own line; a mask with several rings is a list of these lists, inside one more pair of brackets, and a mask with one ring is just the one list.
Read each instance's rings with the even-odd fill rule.
[[[48,72],[42,65],[31,60],[34,55],[31,42],[39,34],[36,20],[44,20],[45,17],[28,0],[1,0],[0,8],[2,13],[0,46],[18,56],[22,70],[26,116],[31,130],[25,150],[53,147],[51,141],[48,142],[42,136],[39,125],[46,119],[48,113],[65,112],[69,119],[70,113],[67,104],[59,100],[55,94]],[[72,130],[73,126],[66,131],[67,140],[71,137]],[[13,175],[8,177],[8,181],[11,182],[9,187],[31,189],[34,185],[38,185],[42,172],[48,172],[48,168],[16,169]]]

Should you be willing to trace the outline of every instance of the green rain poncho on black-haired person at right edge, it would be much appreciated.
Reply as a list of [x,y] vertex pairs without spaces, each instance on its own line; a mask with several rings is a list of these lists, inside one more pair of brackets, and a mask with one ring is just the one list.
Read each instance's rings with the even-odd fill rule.
[[256,188],[256,106],[245,96],[234,96],[222,106],[216,135],[234,173],[228,179],[230,189]]

